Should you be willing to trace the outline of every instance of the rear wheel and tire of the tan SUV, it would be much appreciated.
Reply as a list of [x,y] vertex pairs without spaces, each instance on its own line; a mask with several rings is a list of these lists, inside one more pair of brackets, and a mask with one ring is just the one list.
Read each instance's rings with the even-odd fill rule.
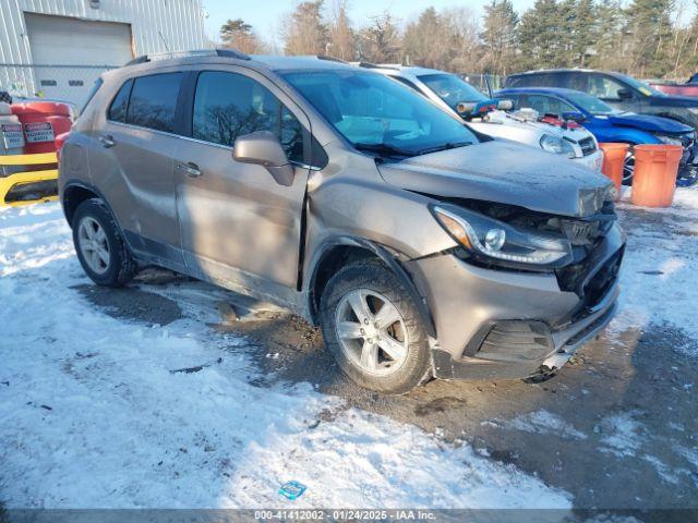
[[92,198],[80,204],[72,227],[77,259],[92,281],[98,285],[121,287],[133,279],[137,264],[101,199]]

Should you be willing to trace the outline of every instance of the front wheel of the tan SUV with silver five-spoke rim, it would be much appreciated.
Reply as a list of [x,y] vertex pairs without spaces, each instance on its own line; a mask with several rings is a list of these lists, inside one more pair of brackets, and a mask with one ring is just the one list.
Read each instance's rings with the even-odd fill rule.
[[[363,309],[363,320],[356,314],[359,296],[369,307]],[[390,324],[394,318],[398,319]],[[378,262],[347,265],[327,282],[320,324],[325,346],[341,370],[361,387],[401,394],[431,377],[423,319],[402,282]]]

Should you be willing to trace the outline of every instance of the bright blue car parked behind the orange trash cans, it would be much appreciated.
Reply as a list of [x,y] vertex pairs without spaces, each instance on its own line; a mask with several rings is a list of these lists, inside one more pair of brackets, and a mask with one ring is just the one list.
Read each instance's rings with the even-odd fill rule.
[[[515,109],[532,108],[541,115],[564,114],[567,119],[577,120],[599,142],[681,145],[684,147],[684,156],[678,169],[677,185],[690,185],[698,179],[694,129],[676,120],[623,112],[586,93],[557,87],[502,89],[494,96],[512,100]],[[625,184],[631,183],[634,168],[635,161],[630,156],[625,165]]]

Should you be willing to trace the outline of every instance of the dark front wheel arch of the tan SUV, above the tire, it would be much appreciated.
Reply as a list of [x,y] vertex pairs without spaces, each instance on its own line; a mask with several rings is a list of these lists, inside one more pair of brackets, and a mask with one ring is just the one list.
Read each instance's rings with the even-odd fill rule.
[[313,323],[317,321],[320,300],[327,282],[339,268],[359,259],[378,259],[390,269],[405,285],[424,323],[426,333],[436,337],[431,312],[419,292],[413,278],[402,267],[395,253],[388,247],[369,240],[337,236],[326,241],[313,257],[311,277],[308,281],[308,309]]

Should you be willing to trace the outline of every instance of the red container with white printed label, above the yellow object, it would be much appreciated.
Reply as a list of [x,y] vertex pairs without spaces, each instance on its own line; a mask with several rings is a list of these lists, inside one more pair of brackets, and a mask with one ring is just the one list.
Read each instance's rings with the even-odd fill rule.
[[68,133],[73,124],[70,107],[57,101],[13,104],[12,113],[24,130],[24,154],[55,153],[56,136]]

